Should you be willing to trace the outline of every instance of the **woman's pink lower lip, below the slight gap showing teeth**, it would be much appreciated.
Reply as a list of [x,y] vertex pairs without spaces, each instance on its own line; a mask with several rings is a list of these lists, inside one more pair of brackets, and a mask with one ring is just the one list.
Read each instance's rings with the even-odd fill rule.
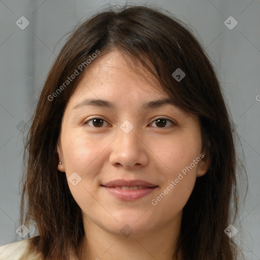
[[153,192],[158,186],[152,188],[123,190],[120,188],[109,188],[103,186],[110,194],[120,199],[121,201],[135,201]]

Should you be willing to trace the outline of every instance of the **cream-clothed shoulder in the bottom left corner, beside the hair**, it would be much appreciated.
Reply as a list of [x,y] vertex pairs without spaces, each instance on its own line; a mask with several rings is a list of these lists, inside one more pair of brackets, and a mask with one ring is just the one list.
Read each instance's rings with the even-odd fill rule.
[[[31,238],[30,238],[31,239]],[[30,239],[21,240],[0,247],[0,260],[39,259],[35,251],[29,251]]]

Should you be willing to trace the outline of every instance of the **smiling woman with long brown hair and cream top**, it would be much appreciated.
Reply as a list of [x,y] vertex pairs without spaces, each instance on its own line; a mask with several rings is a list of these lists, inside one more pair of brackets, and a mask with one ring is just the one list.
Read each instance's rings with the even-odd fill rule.
[[82,23],[27,138],[21,223],[39,234],[0,259],[237,259],[232,121],[202,46],[163,10]]

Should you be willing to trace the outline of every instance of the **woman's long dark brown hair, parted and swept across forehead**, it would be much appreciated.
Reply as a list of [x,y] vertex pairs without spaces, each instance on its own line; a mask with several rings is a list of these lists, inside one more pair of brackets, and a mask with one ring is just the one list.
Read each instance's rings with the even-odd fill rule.
[[[117,48],[151,72],[170,98],[198,114],[208,172],[197,178],[183,209],[178,251],[183,260],[235,260],[238,247],[225,233],[237,215],[235,132],[210,59],[184,23],[145,6],[111,8],[93,15],[69,37],[47,76],[29,129],[24,152],[21,223],[36,222],[31,246],[43,259],[67,260],[84,236],[82,214],[66,175],[57,170],[61,119],[84,70]],[[50,101],[53,93],[96,50],[100,54]],[[138,62],[137,62],[138,61]],[[131,62],[129,62],[131,66]],[[132,66],[137,73],[141,67]],[[186,75],[177,82],[172,73]],[[231,208],[233,205],[233,208]],[[25,211],[26,208],[26,211]]]

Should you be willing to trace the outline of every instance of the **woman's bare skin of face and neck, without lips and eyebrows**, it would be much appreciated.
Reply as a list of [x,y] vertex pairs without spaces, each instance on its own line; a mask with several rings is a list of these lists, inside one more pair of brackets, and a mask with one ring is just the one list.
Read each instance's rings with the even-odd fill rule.
[[[141,108],[168,98],[153,82],[152,86],[129,69],[114,49],[89,66],[64,111],[58,170],[67,179],[74,172],[81,177],[75,186],[68,181],[83,214],[85,238],[77,250],[81,260],[174,259],[182,209],[196,178],[207,172],[208,160],[205,156],[164,199],[151,204],[203,152],[197,115],[174,105]],[[115,109],[73,109],[88,98],[108,100]],[[104,121],[95,124],[90,117]],[[155,123],[158,117],[171,121],[161,126]],[[134,126],[128,134],[120,129],[125,120]],[[120,201],[101,187],[115,179],[141,179],[159,187],[136,201]],[[133,231],[129,237],[120,232],[126,224]]]

